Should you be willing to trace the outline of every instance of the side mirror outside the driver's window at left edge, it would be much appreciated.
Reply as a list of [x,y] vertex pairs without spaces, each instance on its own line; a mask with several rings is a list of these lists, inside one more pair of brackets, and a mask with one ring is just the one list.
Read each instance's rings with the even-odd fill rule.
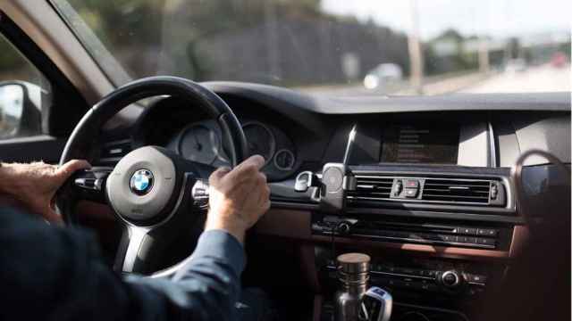
[[0,82],[0,139],[42,131],[42,90],[25,81]]

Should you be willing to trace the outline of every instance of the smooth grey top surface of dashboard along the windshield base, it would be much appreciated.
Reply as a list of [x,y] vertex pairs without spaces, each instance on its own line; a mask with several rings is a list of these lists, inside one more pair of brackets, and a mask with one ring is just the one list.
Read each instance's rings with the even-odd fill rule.
[[205,82],[217,93],[273,98],[324,114],[415,111],[570,111],[570,93],[453,94],[433,96],[325,97],[290,89],[240,82]]

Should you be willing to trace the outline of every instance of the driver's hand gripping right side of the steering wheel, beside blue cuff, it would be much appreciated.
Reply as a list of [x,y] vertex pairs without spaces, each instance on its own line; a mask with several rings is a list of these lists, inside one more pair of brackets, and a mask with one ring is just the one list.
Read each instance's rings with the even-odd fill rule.
[[209,178],[210,196],[205,230],[223,229],[240,243],[246,230],[270,209],[270,188],[260,172],[265,160],[255,155],[235,169],[217,169]]

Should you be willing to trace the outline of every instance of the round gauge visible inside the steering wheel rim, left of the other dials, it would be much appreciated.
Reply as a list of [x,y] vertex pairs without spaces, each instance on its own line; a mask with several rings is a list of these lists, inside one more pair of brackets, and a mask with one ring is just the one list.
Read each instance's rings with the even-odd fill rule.
[[189,161],[212,164],[219,154],[219,138],[212,128],[191,125],[186,128],[179,141],[179,153]]

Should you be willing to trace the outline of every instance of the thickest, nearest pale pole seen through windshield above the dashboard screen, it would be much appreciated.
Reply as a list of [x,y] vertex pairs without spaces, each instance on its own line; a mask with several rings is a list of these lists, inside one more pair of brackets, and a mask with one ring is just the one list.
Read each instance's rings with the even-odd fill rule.
[[408,33],[409,81],[417,95],[423,94],[423,53],[419,39],[419,12],[416,0],[409,0],[411,30]]

